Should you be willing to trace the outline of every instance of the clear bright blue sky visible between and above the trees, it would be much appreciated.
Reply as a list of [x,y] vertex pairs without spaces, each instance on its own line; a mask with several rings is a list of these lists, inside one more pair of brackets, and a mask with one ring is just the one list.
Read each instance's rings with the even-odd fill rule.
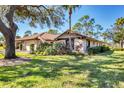
[[[107,5],[89,5],[89,6],[82,6],[80,9],[77,9],[75,12],[73,12],[72,15],[72,25],[74,25],[80,17],[83,15],[89,15],[91,18],[95,19],[96,24],[101,24],[105,29],[109,28],[110,25],[112,25],[115,20],[119,17],[124,17],[124,6],[107,6]],[[67,17],[67,14],[66,14]],[[30,27],[26,23],[18,23],[19,31],[18,35],[23,36],[24,32],[27,30],[31,30],[33,33],[35,32],[45,32],[48,30],[48,28],[40,28],[39,26],[37,28]],[[68,23],[65,23],[64,26],[59,29],[60,32],[64,32],[68,29]]]

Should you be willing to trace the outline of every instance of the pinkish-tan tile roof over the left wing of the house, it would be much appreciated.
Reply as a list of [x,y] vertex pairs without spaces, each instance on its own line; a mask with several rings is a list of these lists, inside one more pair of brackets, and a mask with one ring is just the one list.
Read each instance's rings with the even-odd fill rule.
[[23,38],[18,38],[16,39],[16,41],[26,41],[26,40],[34,40],[34,39],[44,39],[44,40],[54,40],[58,35],[54,35],[54,34],[49,34],[49,33],[40,33],[40,34],[36,34],[36,35],[32,35],[32,36],[27,36],[27,37],[23,37]]

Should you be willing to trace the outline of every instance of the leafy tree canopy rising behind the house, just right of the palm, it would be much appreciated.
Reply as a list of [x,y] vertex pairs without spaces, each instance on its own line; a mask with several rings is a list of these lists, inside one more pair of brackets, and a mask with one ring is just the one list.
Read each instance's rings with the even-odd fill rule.
[[73,30],[98,39],[103,27],[100,24],[95,24],[94,18],[91,18],[89,15],[84,15],[73,26]]

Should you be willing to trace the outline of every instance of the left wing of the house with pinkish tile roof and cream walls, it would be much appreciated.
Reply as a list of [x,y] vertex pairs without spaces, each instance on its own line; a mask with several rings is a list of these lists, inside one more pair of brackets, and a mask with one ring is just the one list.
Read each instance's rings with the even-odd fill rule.
[[44,42],[52,43],[54,42],[54,39],[58,35],[55,34],[49,34],[46,32],[35,34],[32,36],[26,36],[23,38],[16,39],[15,46],[19,50],[30,52],[30,46],[32,45],[34,47],[34,50],[37,49],[38,45]]

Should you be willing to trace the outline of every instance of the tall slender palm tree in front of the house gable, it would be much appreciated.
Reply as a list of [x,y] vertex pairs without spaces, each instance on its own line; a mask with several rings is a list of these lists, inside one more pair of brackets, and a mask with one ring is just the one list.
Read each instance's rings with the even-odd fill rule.
[[65,10],[68,10],[68,14],[69,14],[69,48],[70,48],[70,51],[73,50],[72,48],[72,42],[71,42],[71,36],[70,36],[70,33],[72,32],[72,24],[71,24],[71,17],[72,17],[72,11],[75,11],[76,8],[79,8],[80,6],[79,5],[63,5],[63,7],[65,8]]

